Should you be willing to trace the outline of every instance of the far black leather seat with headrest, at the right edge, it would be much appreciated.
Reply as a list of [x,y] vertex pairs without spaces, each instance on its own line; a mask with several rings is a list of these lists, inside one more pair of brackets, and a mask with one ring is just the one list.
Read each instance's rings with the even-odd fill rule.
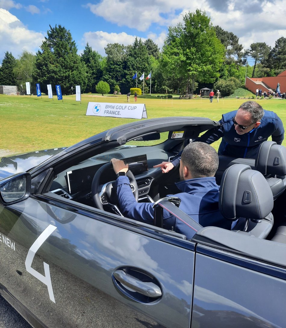
[[257,152],[255,170],[264,175],[276,199],[286,189],[286,148],[264,141]]

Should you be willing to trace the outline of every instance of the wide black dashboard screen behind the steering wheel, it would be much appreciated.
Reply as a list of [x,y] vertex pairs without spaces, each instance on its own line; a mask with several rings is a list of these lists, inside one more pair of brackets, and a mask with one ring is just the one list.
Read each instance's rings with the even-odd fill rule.
[[[129,170],[134,175],[148,171],[146,154],[124,158],[123,161],[125,164],[128,164]],[[87,166],[67,172],[66,179],[70,194],[79,191],[91,191],[94,174],[102,165],[106,164],[99,160],[96,162],[98,163],[97,165]],[[110,169],[107,169],[102,173],[99,184],[104,184],[113,180],[116,180],[116,175],[111,166]]]

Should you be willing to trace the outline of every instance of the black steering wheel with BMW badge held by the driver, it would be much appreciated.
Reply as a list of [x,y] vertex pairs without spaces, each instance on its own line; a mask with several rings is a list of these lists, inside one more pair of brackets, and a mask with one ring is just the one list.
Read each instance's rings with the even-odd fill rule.
[[[115,205],[118,202],[115,181],[106,183],[102,187],[101,193],[100,194],[98,193],[99,181],[100,181],[101,174],[103,174],[103,172],[105,170],[110,170],[111,168],[112,168],[112,163],[106,163],[106,164],[102,165],[102,167],[97,170],[97,172],[95,173],[93,180],[92,180],[92,191],[91,191],[92,200],[93,200],[95,206],[99,210],[103,210],[103,205],[102,205],[103,203],[104,204],[111,203],[111,204]],[[136,201],[138,201],[138,186],[137,186],[136,179],[130,170],[127,171],[126,175],[129,178],[131,186],[133,186],[133,188],[132,188],[132,189],[134,189],[134,190],[132,190],[133,195],[134,195]]]

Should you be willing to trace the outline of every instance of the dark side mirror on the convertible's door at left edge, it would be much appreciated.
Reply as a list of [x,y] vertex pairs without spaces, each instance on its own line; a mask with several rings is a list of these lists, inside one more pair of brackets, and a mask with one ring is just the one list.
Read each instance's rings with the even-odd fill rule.
[[19,203],[30,194],[30,173],[18,173],[0,181],[0,203],[4,206]]

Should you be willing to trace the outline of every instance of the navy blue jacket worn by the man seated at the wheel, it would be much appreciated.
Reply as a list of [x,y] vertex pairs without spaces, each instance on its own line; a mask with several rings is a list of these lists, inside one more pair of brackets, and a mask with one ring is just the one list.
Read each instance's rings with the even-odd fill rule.
[[[129,218],[153,224],[153,203],[137,203],[128,177],[119,176],[116,180],[117,195],[121,213]],[[173,195],[181,199],[180,210],[191,216],[203,227],[215,226],[231,229],[232,222],[223,218],[218,209],[219,187],[215,177],[184,180],[176,183],[182,193]],[[164,228],[185,235],[188,239],[194,236],[194,230],[168,211],[163,210]]]

